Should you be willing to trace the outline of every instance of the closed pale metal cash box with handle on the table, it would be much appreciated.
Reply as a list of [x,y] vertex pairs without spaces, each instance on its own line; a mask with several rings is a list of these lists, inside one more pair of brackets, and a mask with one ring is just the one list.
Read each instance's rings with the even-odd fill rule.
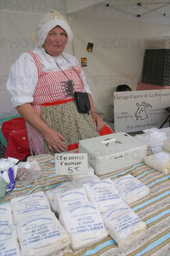
[[144,162],[147,145],[124,132],[79,141],[95,174],[104,175]]

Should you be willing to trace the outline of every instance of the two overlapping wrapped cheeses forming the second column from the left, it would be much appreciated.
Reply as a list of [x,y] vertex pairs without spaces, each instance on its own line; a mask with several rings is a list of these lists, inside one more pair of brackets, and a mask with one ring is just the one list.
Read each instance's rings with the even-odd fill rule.
[[23,256],[49,255],[70,244],[69,236],[42,191],[11,199],[11,208]]

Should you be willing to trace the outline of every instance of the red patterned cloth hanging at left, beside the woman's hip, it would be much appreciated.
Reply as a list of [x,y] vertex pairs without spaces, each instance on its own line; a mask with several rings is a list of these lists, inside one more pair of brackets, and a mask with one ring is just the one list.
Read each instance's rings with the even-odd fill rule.
[[30,156],[26,123],[22,117],[13,118],[2,123],[1,131],[6,138],[7,148],[5,157],[13,157],[22,161],[26,156]]

